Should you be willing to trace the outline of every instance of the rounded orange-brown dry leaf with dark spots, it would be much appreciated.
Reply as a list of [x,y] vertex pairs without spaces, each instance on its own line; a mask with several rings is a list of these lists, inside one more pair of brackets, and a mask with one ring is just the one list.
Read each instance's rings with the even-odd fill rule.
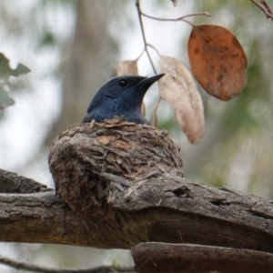
[[194,76],[211,96],[227,101],[247,84],[247,57],[235,35],[218,25],[195,25],[187,51]]

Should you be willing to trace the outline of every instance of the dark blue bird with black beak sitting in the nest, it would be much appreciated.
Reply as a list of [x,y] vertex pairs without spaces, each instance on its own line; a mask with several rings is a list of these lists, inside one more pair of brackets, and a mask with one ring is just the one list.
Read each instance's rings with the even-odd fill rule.
[[82,123],[103,123],[114,116],[125,116],[126,121],[136,124],[150,122],[141,114],[141,104],[147,89],[165,74],[155,76],[116,76],[102,86],[87,108]]

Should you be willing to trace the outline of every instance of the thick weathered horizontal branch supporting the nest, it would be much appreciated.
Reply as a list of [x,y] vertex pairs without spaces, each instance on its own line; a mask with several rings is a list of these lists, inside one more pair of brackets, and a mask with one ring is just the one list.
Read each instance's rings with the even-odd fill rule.
[[273,205],[266,198],[162,177],[111,200],[83,216],[54,192],[0,194],[0,240],[95,248],[158,241],[273,253]]

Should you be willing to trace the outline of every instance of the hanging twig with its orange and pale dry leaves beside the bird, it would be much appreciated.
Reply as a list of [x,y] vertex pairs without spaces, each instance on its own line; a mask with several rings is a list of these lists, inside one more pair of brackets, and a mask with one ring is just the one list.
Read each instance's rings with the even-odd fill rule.
[[[173,108],[177,123],[186,133],[189,142],[197,144],[205,133],[205,116],[195,79],[208,95],[222,101],[238,96],[247,85],[248,61],[245,52],[236,36],[226,28],[219,25],[193,25],[185,19],[194,15],[208,15],[207,13],[184,15],[174,19],[157,18],[143,13],[139,2],[136,1],[136,9],[145,48],[136,60],[126,60],[118,64],[116,74],[138,75],[137,62],[144,52],[147,53],[151,66],[157,73],[147,50],[154,49],[160,64],[158,72],[166,76],[158,81],[160,99],[153,111],[152,125],[157,126],[157,107],[163,99]],[[176,6],[177,2],[173,3]],[[162,56],[154,45],[147,43],[142,16],[158,21],[182,21],[192,26],[187,41],[187,54],[192,73],[180,60],[172,56]]]

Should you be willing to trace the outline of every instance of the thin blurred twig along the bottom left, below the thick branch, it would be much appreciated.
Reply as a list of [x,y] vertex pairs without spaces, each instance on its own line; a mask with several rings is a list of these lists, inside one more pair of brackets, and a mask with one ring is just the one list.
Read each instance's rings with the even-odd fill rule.
[[0,263],[15,268],[17,270],[28,270],[31,272],[39,273],[111,273],[111,272],[136,272],[134,268],[115,268],[115,267],[99,267],[99,268],[86,268],[86,269],[56,269],[56,268],[42,268],[35,265],[17,262],[11,258],[0,256]]

